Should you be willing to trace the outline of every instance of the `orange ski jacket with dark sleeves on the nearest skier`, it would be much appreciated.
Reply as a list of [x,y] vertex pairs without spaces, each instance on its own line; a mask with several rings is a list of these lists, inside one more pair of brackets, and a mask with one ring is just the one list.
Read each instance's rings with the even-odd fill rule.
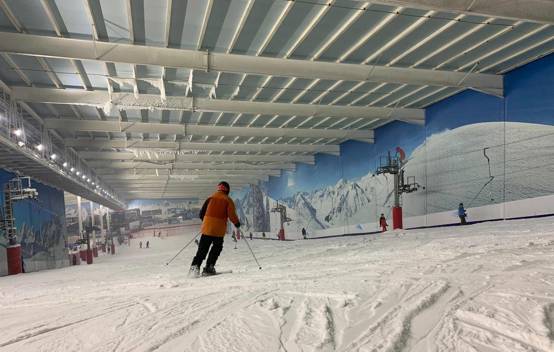
[[227,219],[240,227],[233,200],[222,191],[217,191],[206,199],[200,210],[203,235],[223,237],[227,230]]

